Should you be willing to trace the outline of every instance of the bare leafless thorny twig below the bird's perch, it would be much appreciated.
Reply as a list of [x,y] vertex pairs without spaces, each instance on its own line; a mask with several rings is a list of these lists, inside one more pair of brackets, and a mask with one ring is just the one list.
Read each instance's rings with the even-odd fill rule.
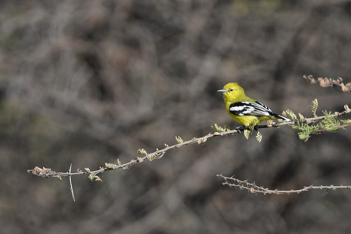
[[305,191],[309,191],[309,189],[326,189],[327,192],[329,189],[332,190],[336,190],[336,189],[340,189],[340,188],[347,188],[347,189],[351,189],[351,186],[335,186],[335,185],[329,185],[329,186],[325,186],[325,185],[321,185],[321,186],[306,186],[302,189],[291,189],[291,190],[278,190],[278,189],[269,189],[269,188],[264,188],[262,186],[257,186],[255,183],[250,183],[247,182],[247,180],[239,180],[237,178],[234,178],[233,176],[231,177],[227,177],[224,176],[222,174],[217,175],[222,177],[223,179],[225,179],[225,182],[223,182],[223,185],[229,185],[230,187],[237,187],[240,189],[246,189],[248,190],[250,193],[263,193],[263,194],[290,194],[290,193],[301,193],[301,192],[305,192]]

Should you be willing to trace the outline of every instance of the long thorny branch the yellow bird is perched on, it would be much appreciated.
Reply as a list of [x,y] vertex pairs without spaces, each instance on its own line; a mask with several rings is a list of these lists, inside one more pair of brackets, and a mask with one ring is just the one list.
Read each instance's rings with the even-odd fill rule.
[[[336,112],[334,114],[329,115],[330,118],[338,118],[338,117],[342,117],[342,116],[346,116],[350,114],[350,112],[347,111],[343,111],[343,112]],[[313,118],[305,118],[305,119],[301,119],[301,120],[294,120],[294,121],[290,121],[290,122],[280,122],[280,123],[272,123],[272,124],[268,124],[268,125],[260,125],[258,126],[258,128],[272,128],[272,127],[281,127],[281,126],[286,126],[286,125],[296,125],[297,123],[303,123],[303,122],[307,122],[307,123],[311,123],[317,120],[323,120],[325,119],[326,116],[317,116],[317,117],[313,117]],[[343,128],[344,126],[347,125],[341,125],[338,126],[340,128]],[[322,131],[322,130],[321,130]],[[99,173],[108,171],[108,170],[115,170],[115,169],[128,169],[129,167],[137,164],[137,163],[141,163],[146,161],[146,159],[148,159],[149,161],[153,160],[153,159],[159,159],[161,158],[166,151],[170,150],[170,149],[174,149],[174,148],[178,148],[181,146],[185,146],[188,144],[193,144],[193,143],[198,143],[201,145],[204,145],[205,142],[207,141],[208,138],[211,138],[213,136],[225,136],[225,135],[232,135],[237,133],[237,130],[230,130],[230,131],[226,131],[226,132],[214,132],[214,133],[209,133],[205,136],[196,138],[194,137],[191,140],[188,141],[184,141],[181,143],[178,143],[176,145],[172,145],[172,146],[168,146],[165,144],[165,148],[163,149],[156,149],[155,152],[148,154],[146,153],[146,151],[144,150],[142,154],[145,154],[146,156],[140,158],[138,157],[137,160],[132,159],[130,162],[124,163],[124,164],[119,164],[119,165],[115,165],[112,163],[105,163],[105,167],[100,167],[100,169],[96,170],[96,171],[90,171],[89,169],[86,169],[86,171],[81,171],[81,170],[77,170],[77,172],[75,173],[71,173],[71,172],[55,172],[52,171],[51,168],[40,168],[40,167],[35,167],[34,169],[29,169],[27,170],[28,173],[32,173],[34,175],[38,175],[41,177],[58,177],[61,178],[61,176],[71,176],[71,175],[81,175],[81,174],[91,174],[91,175],[97,175]]]

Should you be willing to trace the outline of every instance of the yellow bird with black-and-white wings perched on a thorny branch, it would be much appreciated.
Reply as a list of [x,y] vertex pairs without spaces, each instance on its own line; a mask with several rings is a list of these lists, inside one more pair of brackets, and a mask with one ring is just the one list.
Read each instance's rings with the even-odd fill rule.
[[238,133],[241,133],[240,129],[244,128],[257,131],[258,124],[265,120],[282,119],[283,121],[290,121],[282,115],[273,113],[263,103],[246,96],[244,89],[236,82],[227,83],[223,89],[219,89],[217,92],[223,93],[227,113],[243,125],[235,128]]

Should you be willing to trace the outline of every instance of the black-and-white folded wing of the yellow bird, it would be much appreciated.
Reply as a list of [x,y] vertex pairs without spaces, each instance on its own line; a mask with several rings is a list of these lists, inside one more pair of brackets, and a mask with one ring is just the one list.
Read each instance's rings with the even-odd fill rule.
[[229,112],[234,115],[261,115],[272,116],[272,110],[259,101],[236,102],[229,106]]

